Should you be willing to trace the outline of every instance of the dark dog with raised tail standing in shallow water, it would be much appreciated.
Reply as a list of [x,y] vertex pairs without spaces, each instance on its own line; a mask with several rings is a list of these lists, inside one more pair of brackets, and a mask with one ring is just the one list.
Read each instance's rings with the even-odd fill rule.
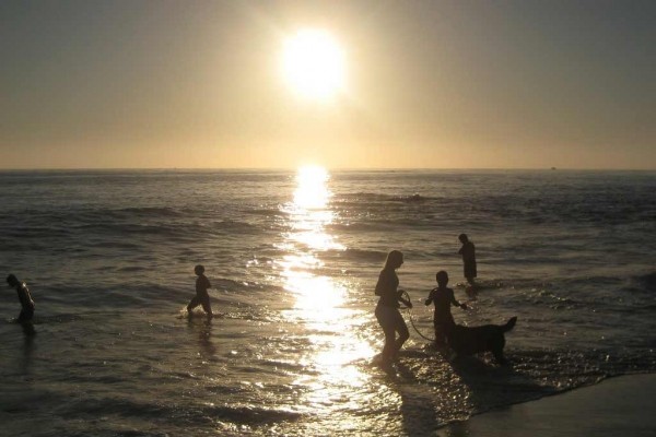
[[517,318],[513,317],[505,324],[484,324],[482,327],[461,327],[452,324],[446,330],[448,345],[458,355],[471,355],[478,352],[492,352],[499,364],[505,364],[503,346],[505,346],[504,333],[515,327]]

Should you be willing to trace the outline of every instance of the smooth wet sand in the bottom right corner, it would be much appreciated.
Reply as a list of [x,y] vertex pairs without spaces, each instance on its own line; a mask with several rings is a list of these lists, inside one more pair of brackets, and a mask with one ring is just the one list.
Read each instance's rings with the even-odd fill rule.
[[656,374],[607,379],[492,411],[436,433],[441,437],[656,436]]

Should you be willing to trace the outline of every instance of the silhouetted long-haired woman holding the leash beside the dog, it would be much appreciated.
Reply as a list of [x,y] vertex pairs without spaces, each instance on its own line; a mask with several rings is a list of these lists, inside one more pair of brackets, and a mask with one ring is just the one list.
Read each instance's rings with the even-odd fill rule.
[[[396,274],[396,269],[401,267],[402,263],[403,253],[398,250],[390,251],[376,283],[376,296],[380,296],[380,299],[378,299],[375,314],[385,333],[385,346],[380,353],[383,365],[389,365],[406,340],[410,338],[406,321],[399,312],[399,302],[412,308],[412,303],[402,297],[405,292],[397,290],[399,277]],[[397,332],[399,333],[398,339],[396,338]]]

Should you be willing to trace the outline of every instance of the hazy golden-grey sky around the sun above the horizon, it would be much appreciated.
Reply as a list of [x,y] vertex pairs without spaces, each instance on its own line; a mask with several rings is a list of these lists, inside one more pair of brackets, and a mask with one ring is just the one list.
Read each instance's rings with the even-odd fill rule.
[[[0,1],[0,167],[656,169],[656,1]],[[300,98],[283,39],[347,90]]]

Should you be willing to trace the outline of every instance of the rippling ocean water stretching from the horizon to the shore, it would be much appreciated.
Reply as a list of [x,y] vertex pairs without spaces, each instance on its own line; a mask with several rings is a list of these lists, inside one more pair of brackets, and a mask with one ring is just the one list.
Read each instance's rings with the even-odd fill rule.
[[[0,294],[2,436],[434,435],[656,371],[654,172],[2,172],[0,202],[0,271],[36,302],[31,333]],[[386,373],[373,290],[393,249],[414,308]],[[212,320],[183,311],[199,263]],[[424,339],[438,270],[469,302],[458,323],[517,316],[509,365]]]

